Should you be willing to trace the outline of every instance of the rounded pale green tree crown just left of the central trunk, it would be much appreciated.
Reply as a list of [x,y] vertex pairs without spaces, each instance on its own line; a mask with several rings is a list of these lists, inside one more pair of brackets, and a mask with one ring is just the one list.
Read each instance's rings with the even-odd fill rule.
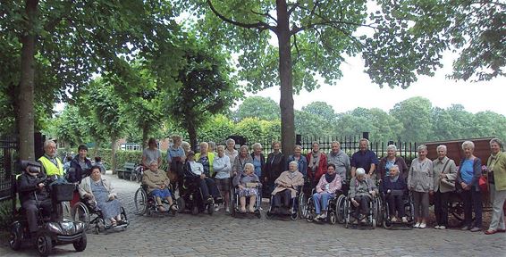
[[280,119],[279,105],[269,97],[251,96],[244,99],[234,113],[234,120],[257,117],[260,120]]

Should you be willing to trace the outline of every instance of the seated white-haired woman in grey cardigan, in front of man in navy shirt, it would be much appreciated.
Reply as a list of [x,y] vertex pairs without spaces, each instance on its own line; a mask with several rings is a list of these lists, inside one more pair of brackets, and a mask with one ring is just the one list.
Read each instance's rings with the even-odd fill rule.
[[358,168],[355,170],[355,177],[350,180],[350,201],[355,207],[354,218],[364,220],[369,213],[369,203],[378,189],[371,178],[366,176],[366,170]]

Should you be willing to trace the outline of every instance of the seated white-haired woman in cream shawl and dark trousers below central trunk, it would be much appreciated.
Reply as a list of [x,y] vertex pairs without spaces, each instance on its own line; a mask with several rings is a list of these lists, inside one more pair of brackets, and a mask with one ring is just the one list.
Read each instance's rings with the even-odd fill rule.
[[[289,214],[288,208],[291,206],[291,199],[297,196],[298,187],[304,185],[304,176],[299,172],[299,162],[292,161],[288,164],[289,170],[283,171],[279,178],[274,181],[273,212],[279,212],[278,209],[283,206],[284,214]],[[283,200],[283,201],[282,201]]]

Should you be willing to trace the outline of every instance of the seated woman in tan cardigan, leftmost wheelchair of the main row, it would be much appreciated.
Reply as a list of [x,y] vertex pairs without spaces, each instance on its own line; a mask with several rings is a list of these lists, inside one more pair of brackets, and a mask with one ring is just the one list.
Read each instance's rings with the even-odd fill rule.
[[169,190],[171,181],[163,170],[158,170],[158,162],[149,163],[149,170],[144,171],[142,184],[146,186],[149,195],[153,195],[157,210],[165,212],[164,203],[169,204],[171,211],[177,211],[177,205],[173,203],[173,196]]

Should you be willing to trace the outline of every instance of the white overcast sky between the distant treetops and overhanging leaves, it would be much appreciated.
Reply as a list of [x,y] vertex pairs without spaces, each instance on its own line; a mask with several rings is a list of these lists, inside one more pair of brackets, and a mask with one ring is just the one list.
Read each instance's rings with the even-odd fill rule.
[[[451,73],[451,62],[456,54],[443,54],[443,68],[436,70],[434,77],[420,76],[417,82],[407,89],[401,87],[380,88],[364,72],[361,57],[349,57],[342,63],[342,79],[336,85],[321,85],[313,92],[301,91],[294,95],[294,107],[300,110],[315,101],[323,101],[333,106],[336,113],[347,112],[357,107],[380,108],[389,112],[394,104],[414,96],[429,99],[433,106],[446,108],[451,104],[462,104],[468,112],[493,111],[506,115],[506,78],[496,78],[484,82],[455,81],[446,79]],[[251,96],[253,94],[247,94]],[[267,88],[255,95],[271,97],[279,104],[279,87]]]

